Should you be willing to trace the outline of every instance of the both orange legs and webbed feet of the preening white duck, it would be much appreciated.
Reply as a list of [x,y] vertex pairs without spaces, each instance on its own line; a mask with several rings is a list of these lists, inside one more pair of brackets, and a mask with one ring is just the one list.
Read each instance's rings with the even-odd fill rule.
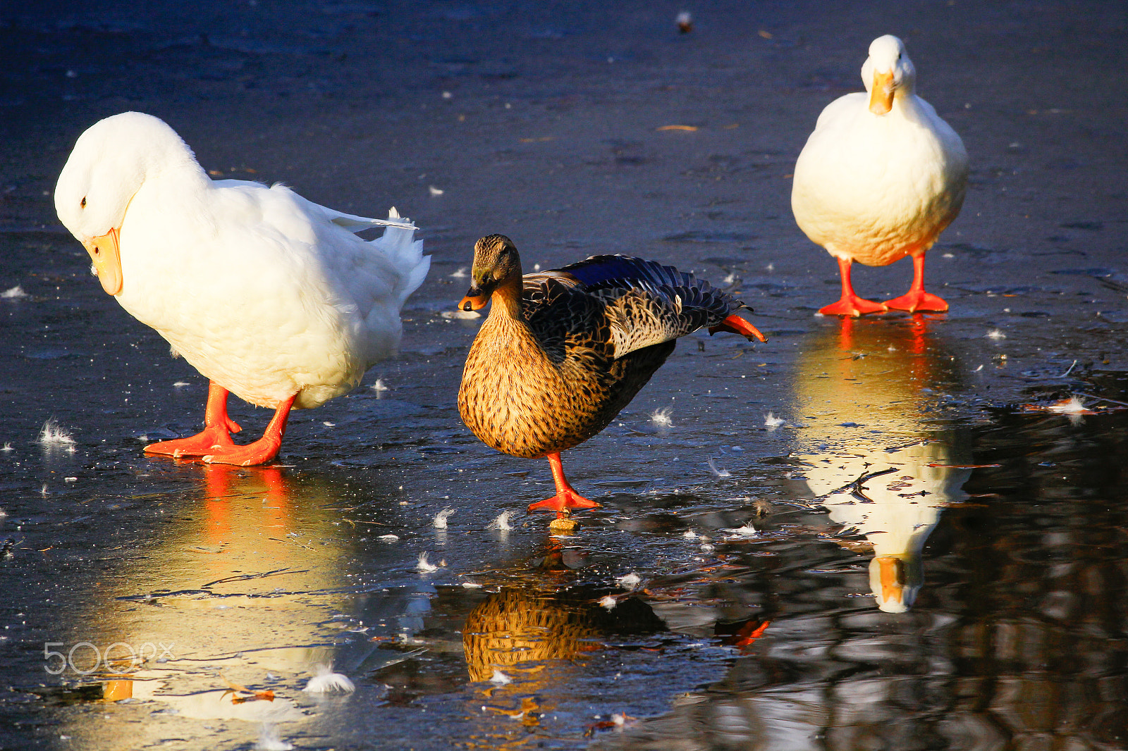
[[[150,443],[146,453],[162,453],[170,457],[201,457],[209,463],[217,465],[252,465],[266,463],[277,456],[285,435],[285,421],[297,395],[282,401],[274,410],[274,417],[263,438],[247,445],[237,445],[231,440],[230,432],[239,432],[239,425],[227,416],[228,390],[222,386],[208,386],[208,407],[204,410],[204,428],[185,439]],[[229,432],[230,431],[230,432]]]

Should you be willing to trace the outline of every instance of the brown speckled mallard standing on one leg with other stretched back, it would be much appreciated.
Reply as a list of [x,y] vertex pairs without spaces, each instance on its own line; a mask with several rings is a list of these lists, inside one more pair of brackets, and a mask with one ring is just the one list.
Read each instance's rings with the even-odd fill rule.
[[548,459],[556,495],[529,511],[558,519],[599,505],[569,484],[561,451],[603,430],[678,337],[707,326],[767,341],[734,315],[743,302],[652,260],[591,256],[522,275],[513,241],[491,235],[474,246],[472,274],[459,308],[493,308],[466,357],[458,412],[486,445]]

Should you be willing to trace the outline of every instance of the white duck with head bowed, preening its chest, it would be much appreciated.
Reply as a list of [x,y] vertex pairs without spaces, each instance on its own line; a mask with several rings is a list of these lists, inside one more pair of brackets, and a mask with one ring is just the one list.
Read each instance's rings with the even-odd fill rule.
[[[103,289],[211,381],[203,432],[146,451],[209,462],[270,461],[291,408],[349,391],[393,354],[399,310],[431,263],[409,222],[344,214],[282,185],[213,182],[171,127],[135,112],[79,136],[55,210]],[[388,229],[373,240],[353,233],[378,224]],[[229,391],[275,409],[261,440],[231,440]]]

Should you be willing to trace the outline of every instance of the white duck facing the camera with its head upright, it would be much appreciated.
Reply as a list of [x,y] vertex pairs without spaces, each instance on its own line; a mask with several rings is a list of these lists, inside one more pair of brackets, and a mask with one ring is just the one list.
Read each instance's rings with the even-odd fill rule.
[[[916,70],[892,35],[870,44],[867,94],[830,103],[795,162],[791,207],[800,229],[838,259],[841,299],[819,312],[860,316],[948,310],[924,291],[924,254],[963,204],[968,152],[932,105],[914,94]],[[913,256],[913,286],[888,302],[863,300],[851,264],[885,266]]]

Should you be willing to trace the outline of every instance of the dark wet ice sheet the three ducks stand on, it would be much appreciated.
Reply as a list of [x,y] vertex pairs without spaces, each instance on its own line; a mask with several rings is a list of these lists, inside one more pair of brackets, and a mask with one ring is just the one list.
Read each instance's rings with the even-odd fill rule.
[[[649,6],[456,6],[37,3],[0,25],[2,742],[1122,746],[1122,413],[1048,410],[1126,400],[1101,372],[1128,370],[1122,11],[721,3],[678,35]],[[952,312],[845,326],[812,317],[837,282],[787,175],[891,18],[972,186],[929,254]],[[205,385],[50,205],[67,145],[124,108],[222,176],[426,232],[402,357],[296,415],[281,469],[139,452],[197,426]],[[442,313],[492,231],[544,267],[694,270],[772,336],[685,341],[569,452],[603,503],[572,538],[523,516],[546,469],[453,408],[476,323]],[[900,293],[905,263],[855,281]],[[52,417],[72,443],[37,442]],[[878,609],[882,573],[908,612]],[[94,648],[114,660],[83,675]],[[131,651],[126,684],[105,671]],[[321,665],[355,691],[302,691]]]

